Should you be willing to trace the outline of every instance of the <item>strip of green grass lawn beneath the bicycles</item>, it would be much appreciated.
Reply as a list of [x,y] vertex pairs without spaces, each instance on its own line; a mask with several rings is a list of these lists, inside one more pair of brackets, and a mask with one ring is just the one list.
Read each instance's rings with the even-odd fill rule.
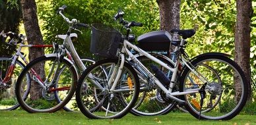
[[26,111],[0,111],[0,124],[256,124],[256,115],[238,115],[232,120],[197,120],[188,113],[170,112],[162,116],[133,116],[127,114],[121,119],[90,120],[81,112],[58,111],[54,113],[28,113]]

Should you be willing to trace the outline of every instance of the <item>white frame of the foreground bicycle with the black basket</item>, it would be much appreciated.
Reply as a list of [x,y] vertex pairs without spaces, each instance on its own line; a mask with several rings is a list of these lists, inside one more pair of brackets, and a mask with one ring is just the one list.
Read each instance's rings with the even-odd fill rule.
[[[184,45],[184,40],[181,39],[180,46],[183,46],[183,45]],[[168,70],[173,72],[172,79],[171,79],[171,82],[170,82],[170,87],[168,89],[166,87],[164,87],[162,85],[162,83],[135,57],[135,55],[133,55],[133,53],[131,53],[129,51],[129,49],[127,49],[127,47],[129,47],[131,49],[134,49],[135,51],[139,52],[140,55],[144,55],[145,57],[147,57],[151,61],[154,61],[155,63],[158,63],[161,66],[164,66],[164,68],[167,68]],[[179,51],[179,49],[180,49],[180,47],[177,46],[176,47],[176,51]],[[196,88],[196,89],[187,89],[187,91],[184,91],[184,92],[179,92],[179,91],[172,92],[172,88],[174,88],[174,85],[176,83],[176,75],[177,75],[177,71],[178,71],[178,67],[179,67],[179,62],[180,61],[182,61],[183,64],[185,64],[185,66],[187,66],[203,83],[208,83],[207,79],[202,74],[200,74],[199,72],[194,70],[195,67],[191,67],[190,66],[191,64],[186,63],[187,61],[185,59],[181,58],[181,56],[177,56],[176,62],[174,63],[174,68],[172,68],[172,67],[168,66],[168,64],[163,63],[159,59],[156,59],[156,57],[153,57],[152,55],[150,55],[146,51],[143,51],[142,49],[140,49],[136,45],[133,45],[132,43],[130,43],[126,39],[123,42],[123,47],[122,47],[120,53],[121,53],[120,54],[121,63],[119,65],[119,70],[117,71],[117,69],[115,69],[113,71],[113,74],[115,74],[117,72],[117,75],[116,75],[115,80],[113,82],[113,86],[110,89],[111,91],[114,91],[113,89],[115,88],[115,86],[117,86],[117,81],[119,80],[119,76],[121,76],[121,69],[123,68],[123,63],[125,61],[125,57],[124,57],[123,53],[126,53],[127,55],[129,55],[129,59],[133,60],[137,65],[141,66],[141,68],[144,71],[144,73],[146,73],[150,77],[150,80],[153,80],[153,82],[156,83],[156,85],[160,89],[162,89],[162,91],[164,91],[168,97],[170,97],[171,99],[174,99],[175,101],[178,101],[179,103],[185,103],[185,101],[183,101],[181,99],[178,99],[177,97],[174,97],[174,96],[176,96],[176,95],[186,95],[186,94],[191,94],[191,93],[197,93],[200,90],[200,88]],[[115,76],[115,75],[112,75],[111,78],[113,78],[113,76]],[[109,81],[111,82],[112,80],[109,80]],[[208,91],[208,89],[205,89],[205,91]]]

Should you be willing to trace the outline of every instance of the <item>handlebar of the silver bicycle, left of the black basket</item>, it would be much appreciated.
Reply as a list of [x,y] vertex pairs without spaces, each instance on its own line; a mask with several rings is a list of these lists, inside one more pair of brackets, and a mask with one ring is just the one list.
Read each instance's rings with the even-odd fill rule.
[[62,7],[59,7],[58,9],[58,14],[60,14],[62,16],[62,18],[70,25],[72,25],[72,27],[76,28],[76,27],[84,27],[84,28],[89,28],[90,26],[88,24],[83,24],[80,22],[77,22],[77,19],[73,18],[71,21],[69,20],[69,18],[67,18],[64,14],[63,11],[67,8],[66,5],[63,5]]

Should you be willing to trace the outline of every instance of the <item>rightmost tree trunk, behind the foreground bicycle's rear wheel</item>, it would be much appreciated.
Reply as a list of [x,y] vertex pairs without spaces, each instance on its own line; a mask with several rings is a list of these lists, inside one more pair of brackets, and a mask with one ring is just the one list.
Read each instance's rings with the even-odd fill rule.
[[[251,44],[251,16],[253,14],[251,0],[237,0],[237,18],[235,34],[234,61],[238,63],[245,72],[248,81],[248,100],[251,100],[251,70],[250,70],[250,44]],[[237,82],[236,82],[237,83]],[[237,87],[237,84],[235,85]],[[239,92],[236,92],[239,95]]]

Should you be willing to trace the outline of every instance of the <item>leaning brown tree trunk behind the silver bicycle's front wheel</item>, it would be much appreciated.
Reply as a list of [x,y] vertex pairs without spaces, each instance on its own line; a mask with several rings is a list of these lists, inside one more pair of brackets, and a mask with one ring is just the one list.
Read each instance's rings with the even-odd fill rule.
[[[22,17],[23,17],[23,23],[24,28],[26,31],[26,37],[28,39],[29,44],[43,44],[43,37],[40,32],[40,28],[38,26],[38,17],[37,17],[37,11],[36,11],[36,2],[34,0],[21,0],[21,7],[22,7]],[[29,60],[32,61],[36,59],[37,57],[41,57],[44,55],[44,49],[43,48],[29,48]],[[43,64],[40,64],[43,65]],[[38,67],[36,69],[36,72],[40,74],[42,78],[44,78],[44,67]],[[31,84],[30,94],[38,93],[35,95],[35,99],[41,97],[40,94],[41,91],[37,86],[39,84],[33,82]]]

